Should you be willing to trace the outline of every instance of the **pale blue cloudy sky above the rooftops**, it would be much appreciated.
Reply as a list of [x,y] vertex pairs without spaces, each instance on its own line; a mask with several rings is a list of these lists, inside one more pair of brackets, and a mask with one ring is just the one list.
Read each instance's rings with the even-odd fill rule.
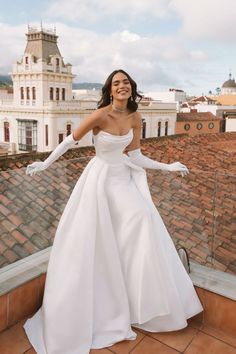
[[236,76],[235,0],[0,0],[0,74],[24,52],[27,25],[56,27],[75,82],[122,68],[141,91],[207,94]]

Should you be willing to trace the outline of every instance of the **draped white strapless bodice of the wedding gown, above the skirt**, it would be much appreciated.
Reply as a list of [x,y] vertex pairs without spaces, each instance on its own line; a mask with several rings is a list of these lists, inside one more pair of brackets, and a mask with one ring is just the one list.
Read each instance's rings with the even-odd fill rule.
[[96,156],[108,164],[120,164],[124,161],[123,151],[133,139],[133,129],[124,135],[114,135],[101,130],[94,135]]

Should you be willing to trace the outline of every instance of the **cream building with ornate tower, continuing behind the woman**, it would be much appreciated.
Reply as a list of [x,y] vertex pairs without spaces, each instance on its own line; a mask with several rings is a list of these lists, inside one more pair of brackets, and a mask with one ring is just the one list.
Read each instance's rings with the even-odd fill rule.
[[[65,63],[55,30],[28,27],[22,58],[11,73],[13,94],[0,93],[0,147],[11,153],[52,151],[97,108],[100,92],[72,91],[72,65]],[[173,93],[172,93],[173,94]],[[143,100],[141,137],[175,134],[176,103]],[[90,131],[78,146],[93,144]]]

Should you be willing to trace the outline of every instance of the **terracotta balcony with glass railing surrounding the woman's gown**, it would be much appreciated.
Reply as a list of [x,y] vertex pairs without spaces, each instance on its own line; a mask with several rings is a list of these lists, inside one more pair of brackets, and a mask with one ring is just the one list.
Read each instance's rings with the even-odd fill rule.
[[[58,161],[34,177],[24,168],[0,173],[0,353],[35,353],[22,325],[41,305],[56,227],[90,158]],[[91,354],[236,353],[235,175],[148,171],[148,183],[176,247],[188,249],[204,313],[181,331],[137,330],[135,341]]]

